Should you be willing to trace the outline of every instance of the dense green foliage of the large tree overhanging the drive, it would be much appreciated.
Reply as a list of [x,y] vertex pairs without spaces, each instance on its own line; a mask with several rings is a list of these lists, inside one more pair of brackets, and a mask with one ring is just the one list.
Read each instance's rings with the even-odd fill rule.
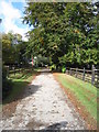
[[[97,7],[97,6],[96,6]],[[28,54],[42,54],[62,65],[99,64],[98,8],[91,3],[28,2],[24,22],[29,32]]]

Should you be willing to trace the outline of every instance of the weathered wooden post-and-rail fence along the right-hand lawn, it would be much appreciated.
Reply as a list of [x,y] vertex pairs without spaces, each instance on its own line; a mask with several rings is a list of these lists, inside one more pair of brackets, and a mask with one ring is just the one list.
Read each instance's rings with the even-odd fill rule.
[[66,67],[66,74],[82,79],[84,81],[91,82],[99,88],[99,69],[96,69],[95,66],[92,66],[91,70],[85,68],[80,69]]

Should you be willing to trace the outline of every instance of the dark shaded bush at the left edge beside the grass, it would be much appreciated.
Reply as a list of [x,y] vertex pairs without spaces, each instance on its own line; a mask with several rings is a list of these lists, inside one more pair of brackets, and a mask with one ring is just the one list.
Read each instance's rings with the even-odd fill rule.
[[12,89],[12,82],[7,78],[7,68],[2,67],[2,99],[9,95]]

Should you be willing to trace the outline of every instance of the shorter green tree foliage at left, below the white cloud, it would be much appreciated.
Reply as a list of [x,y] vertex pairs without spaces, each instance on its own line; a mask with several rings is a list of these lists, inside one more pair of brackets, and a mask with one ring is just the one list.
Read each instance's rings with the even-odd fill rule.
[[25,64],[26,42],[22,42],[20,34],[2,34],[2,61],[4,65]]

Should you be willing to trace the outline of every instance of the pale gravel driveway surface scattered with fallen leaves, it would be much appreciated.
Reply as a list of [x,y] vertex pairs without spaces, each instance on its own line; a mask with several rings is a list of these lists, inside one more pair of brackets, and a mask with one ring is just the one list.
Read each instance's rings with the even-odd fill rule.
[[2,118],[3,130],[85,130],[53,74],[43,72],[25,90],[12,117]]

